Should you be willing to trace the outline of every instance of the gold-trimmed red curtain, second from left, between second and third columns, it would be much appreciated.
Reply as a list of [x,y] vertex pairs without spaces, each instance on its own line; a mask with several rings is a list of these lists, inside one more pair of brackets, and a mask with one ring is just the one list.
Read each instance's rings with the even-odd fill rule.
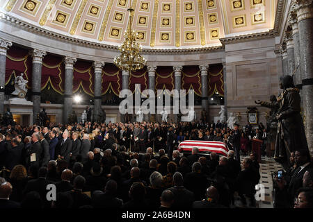
[[62,57],[47,54],[42,60],[41,89],[45,89],[47,85],[51,85],[54,91],[63,94],[65,81],[64,69]]

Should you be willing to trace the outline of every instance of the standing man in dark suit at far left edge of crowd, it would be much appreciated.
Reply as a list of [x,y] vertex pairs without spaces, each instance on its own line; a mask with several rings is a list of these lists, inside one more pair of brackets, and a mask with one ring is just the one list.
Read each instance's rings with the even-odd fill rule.
[[10,171],[18,164],[21,164],[22,159],[22,147],[19,146],[17,139],[11,140],[11,146],[8,148],[8,154],[6,156],[6,168]]

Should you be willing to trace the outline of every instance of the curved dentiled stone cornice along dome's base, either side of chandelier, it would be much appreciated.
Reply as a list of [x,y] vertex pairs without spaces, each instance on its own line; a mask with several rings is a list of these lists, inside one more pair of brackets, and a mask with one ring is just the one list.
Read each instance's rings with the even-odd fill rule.
[[[60,33],[56,33],[54,31],[49,31],[45,28],[40,28],[38,26],[33,26],[32,24],[29,24],[28,22],[24,22],[20,19],[17,19],[11,15],[6,15],[0,12],[0,19],[3,21],[13,24],[13,26],[19,26],[20,28],[24,28],[27,31],[31,31],[33,33],[40,33],[42,35],[48,35],[50,37],[54,37],[56,39],[61,39],[62,41],[67,41],[75,44],[80,44],[83,46],[90,46],[94,48],[100,48],[100,49],[107,49],[111,51],[118,51],[118,46],[113,46],[109,44],[102,44],[98,42],[92,42],[88,40],[81,40],[75,37],[62,35]],[[171,54],[171,53],[198,53],[198,52],[207,52],[207,51],[220,51],[223,50],[224,46],[209,46],[209,47],[199,47],[199,48],[189,48],[189,49],[143,49],[143,53],[150,53],[150,54]]]

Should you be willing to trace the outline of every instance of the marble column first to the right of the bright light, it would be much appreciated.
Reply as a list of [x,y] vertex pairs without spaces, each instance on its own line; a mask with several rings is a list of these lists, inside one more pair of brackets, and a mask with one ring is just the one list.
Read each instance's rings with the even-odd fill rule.
[[102,67],[104,62],[93,62],[95,67],[95,105],[93,105],[93,118],[95,121],[99,121],[99,114],[102,114]]

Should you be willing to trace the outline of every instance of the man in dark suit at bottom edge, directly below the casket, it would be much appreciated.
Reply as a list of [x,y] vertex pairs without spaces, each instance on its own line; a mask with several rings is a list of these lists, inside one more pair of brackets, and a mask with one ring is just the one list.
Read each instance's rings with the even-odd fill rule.
[[209,187],[207,189],[206,198],[193,202],[193,208],[225,208],[218,204],[219,194],[216,187]]

